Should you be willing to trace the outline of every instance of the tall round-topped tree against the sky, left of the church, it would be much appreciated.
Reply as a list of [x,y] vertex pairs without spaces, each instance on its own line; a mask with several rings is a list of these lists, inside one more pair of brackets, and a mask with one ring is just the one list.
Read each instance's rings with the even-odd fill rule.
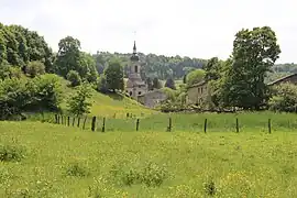
[[67,36],[59,41],[58,53],[55,62],[55,70],[58,75],[66,77],[69,70],[81,70],[80,67],[80,42]]

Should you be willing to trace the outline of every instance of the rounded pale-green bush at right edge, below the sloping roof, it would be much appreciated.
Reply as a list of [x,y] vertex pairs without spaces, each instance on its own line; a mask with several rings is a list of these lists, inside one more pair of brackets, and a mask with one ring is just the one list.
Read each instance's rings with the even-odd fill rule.
[[273,111],[295,112],[297,110],[297,86],[282,84],[274,87],[268,106]]

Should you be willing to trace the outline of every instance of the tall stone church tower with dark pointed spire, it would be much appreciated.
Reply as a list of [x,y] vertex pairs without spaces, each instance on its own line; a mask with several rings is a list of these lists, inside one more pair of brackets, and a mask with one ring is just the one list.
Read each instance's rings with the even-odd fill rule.
[[130,97],[138,100],[140,95],[147,92],[147,86],[141,78],[140,57],[136,52],[136,44],[134,42],[133,54],[129,63],[129,76],[125,91]]

